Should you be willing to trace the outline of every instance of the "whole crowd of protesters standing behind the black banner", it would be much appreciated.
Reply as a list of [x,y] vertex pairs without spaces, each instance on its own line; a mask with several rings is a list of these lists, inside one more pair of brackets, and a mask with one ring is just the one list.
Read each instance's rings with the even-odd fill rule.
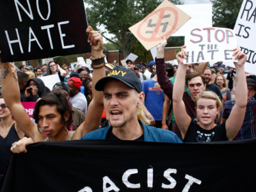
[[[26,145],[38,141],[180,143],[255,138],[256,77],[244,72],[246,55],[239,49],[233,50],[236,68],[223,62],[213,67],[184,65],[185,46],[177,54],[179,65],[172,65],[164,63],[163,41],[157,46],[156,61],[127,60],[121,67],[105,64],[102,36],[90,27],[87,33],[94,56],[92,71],[79,64],[74,70],[66,64],[60,67],[54,61],[36,68],[1,63],[0,133],[8,143],[1,140],[0,148],[8,158],[0,158],[0,177],[11,147],[12,152],[26,152]],[[52,74],[58,74],[60,82],[51,92],[38,77]],[[36,102],[35,123],[21,102]]]

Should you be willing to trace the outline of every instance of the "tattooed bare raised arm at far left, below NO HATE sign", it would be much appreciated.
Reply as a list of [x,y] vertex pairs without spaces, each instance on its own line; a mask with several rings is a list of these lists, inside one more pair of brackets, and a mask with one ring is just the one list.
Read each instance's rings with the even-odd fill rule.
[[[27,136],[34,141],[44,140],[44,135],[38,132],[20,102],[19,83],[15,66],[12,63],[1,63],[2,93],[6,107],[10,109],[17,125]],[[12,88],[12,90],[10,90]]]

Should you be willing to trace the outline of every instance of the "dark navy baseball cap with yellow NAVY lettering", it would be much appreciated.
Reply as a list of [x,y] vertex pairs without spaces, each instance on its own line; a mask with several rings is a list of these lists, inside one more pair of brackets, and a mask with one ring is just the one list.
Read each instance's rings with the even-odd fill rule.
[[107,77],[103,77],[95,84],[95,90],[103,91],[104,85],[111,80],[118,80],[127,86],[133,88],[138,93],[142,92],[142,85],[140,79],[136,76],[133,70],[125,67],[116,66],[111,71],[109,71]]

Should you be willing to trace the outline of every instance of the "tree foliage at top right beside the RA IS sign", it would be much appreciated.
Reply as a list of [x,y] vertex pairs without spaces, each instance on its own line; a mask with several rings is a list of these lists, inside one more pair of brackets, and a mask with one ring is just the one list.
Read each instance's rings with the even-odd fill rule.
[[213,26],[234,29],[243,0],[211,0]]

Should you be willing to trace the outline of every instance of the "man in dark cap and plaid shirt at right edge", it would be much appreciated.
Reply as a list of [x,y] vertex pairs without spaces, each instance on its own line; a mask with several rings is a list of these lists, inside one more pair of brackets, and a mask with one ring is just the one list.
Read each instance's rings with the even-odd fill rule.
[[[246,77],[246,83],[248,90],[246,112],[244,115],[243,125],[234,140],[246,140],[256,138],[256,100],[253,97],[256,93],[256,76]],[[227,120],[234,105],[235,100],[228,100],[225,102],[221,123]]]

